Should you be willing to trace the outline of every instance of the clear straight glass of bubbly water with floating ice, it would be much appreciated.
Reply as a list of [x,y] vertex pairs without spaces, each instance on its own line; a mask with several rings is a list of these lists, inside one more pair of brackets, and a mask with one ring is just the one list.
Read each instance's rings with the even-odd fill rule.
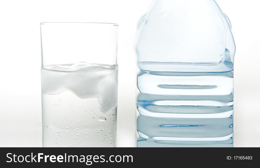
[[40,28],[43,147],[116,147],[118,25]]

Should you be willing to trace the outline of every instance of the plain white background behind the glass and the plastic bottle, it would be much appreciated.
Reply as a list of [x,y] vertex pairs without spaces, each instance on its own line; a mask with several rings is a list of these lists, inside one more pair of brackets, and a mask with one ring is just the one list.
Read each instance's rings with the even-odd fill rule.
[[[0,1],[0,146],[41,146],[40,22],[113,22],[118,39],[118,147],[135,146],[139,17],[152,0]],[[234,146],[260,147],[260,1],[216,0],[236,43]]]

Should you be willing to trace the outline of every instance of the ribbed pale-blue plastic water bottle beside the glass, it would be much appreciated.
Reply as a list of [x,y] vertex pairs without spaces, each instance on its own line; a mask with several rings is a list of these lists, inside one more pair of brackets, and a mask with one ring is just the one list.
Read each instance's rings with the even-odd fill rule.
[[214,0],[154,0],[134,50],[137,147],[233,147],[235,43]]

